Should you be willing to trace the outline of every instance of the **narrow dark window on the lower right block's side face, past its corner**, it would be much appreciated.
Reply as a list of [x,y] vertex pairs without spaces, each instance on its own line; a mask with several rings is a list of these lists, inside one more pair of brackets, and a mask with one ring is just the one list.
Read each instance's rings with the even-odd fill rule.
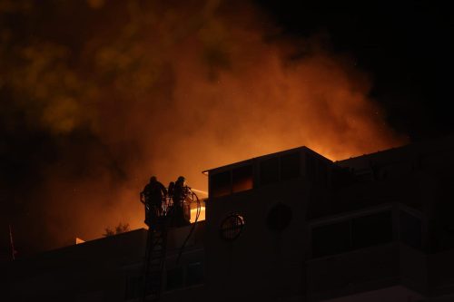
[[400,240],[412,248],[422,247],[421,220],[401,210],[400,215]]

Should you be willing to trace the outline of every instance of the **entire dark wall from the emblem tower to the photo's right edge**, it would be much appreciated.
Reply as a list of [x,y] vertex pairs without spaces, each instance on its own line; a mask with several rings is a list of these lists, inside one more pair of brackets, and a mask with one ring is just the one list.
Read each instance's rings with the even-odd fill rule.
[[[300,295],[315,301],[402,286],[408,288],[410,296],[419,292],[419,296],[411,297],[430,295],[433,285],[429,268],[433,264],[427,254],[450,248],[452,239],[449,234],[443,237],[440,231],[440,221],[448,220],[442,215],[449,217],[451,212],[449,203],[440,200],[452,200],[450,179],[445,175],[454,161],[442,159],[453,146],[452,139],[435,141],[335,163],[302,148],[299,177],[276,179],[265,186],[261,183],[261,163],[281,154],[248,161],[254,169],[251,190],[211,196],[207,204],[205,246],[211,287],[227,290],[222,284],[230,284],[242,297],[258,295],[264,300]],[[232,170],[236,165],[210,173]],[[288,229],[273,233],[264,221],[277,200],[291,207],[296,221],[292,220]],[[389,214],[380,214],[380,207],[388,207]],[[238,239],[222,242],[219,228],[231,212],[240,213],[246,225]],[[333,217],[345,220],[349,216],[355,217],[347,224],[349,247],[326,257],[313,254],[314,221]],[[373,222],[380,220],[377,216],[384,217],[378,224]],[[388,235],[383,228],[389,229]],[[337,237],[331,234],[331,239]],[[438,283],[435,279],[433,282]],[[292,287],[294,280],[301,284]],[[259,285],[270,289],[261,293]]]

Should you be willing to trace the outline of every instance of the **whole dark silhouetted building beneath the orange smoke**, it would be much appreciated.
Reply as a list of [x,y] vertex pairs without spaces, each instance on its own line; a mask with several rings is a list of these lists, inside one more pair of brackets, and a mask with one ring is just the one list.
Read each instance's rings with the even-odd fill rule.
[[[309,148],[207,170],[169,232],[162,301],[454,301],[454,137],[344,161]],[[11,301],[141,301],[146,230],[19,259]],[[179,258],[179,253],[182,257]]]

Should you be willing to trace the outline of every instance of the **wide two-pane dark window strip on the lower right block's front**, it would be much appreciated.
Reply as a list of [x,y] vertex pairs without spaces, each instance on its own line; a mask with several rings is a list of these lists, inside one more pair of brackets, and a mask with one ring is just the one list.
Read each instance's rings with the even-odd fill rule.
[[391,212],[355,217],[312,229],[312,257],[335,255],[392,241]]

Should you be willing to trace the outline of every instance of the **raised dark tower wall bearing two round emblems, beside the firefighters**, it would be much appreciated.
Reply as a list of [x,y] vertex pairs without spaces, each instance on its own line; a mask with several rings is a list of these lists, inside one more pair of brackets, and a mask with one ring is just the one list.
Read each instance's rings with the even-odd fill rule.
[[[282,177],[277,169],[277,176],[263,175],[263,162],[298,154],[298,173],[293,177]],[[304,260],[307,252],[305,238],[306,214],[312,186],[318,184],[317,162],[312,166],[312,175],[308,170],[307,156],[323,161],[326,167],[320,172],[320,180],[327,187],[328,164],[330,161],[320,155],[301,148],[271,154],[249,161],[253,170],[251,190],[232,192],[222,197],[210,197],[207,202],[207,234],[205,251],[207,255],[207,275],[211,283],[207,284],[211,293],[222,291],[224,300],[241,298],[241,300],[260,299],[275,301],[293,299],[304,295],[305,274]],[[244,163],[239,163],[242,165]],[[211,170],[211,180],[216,180],[216,173],[234,170],[236,165]],[[285,175],[285,174],[284,174]],[[266,183],[262,178],[266,177]],[[311,179],[312,177],[312,179]],[[273,181],[270,181],[273,179]],[[212,188],[212,184],[211,184]],[[325,190],[326,191],[326,190]],[[323,192],[319,194],[325,196]],[[288,209],[291,219],[282,229],[270,222],[274,209],[282,209],[276,214],[278,219],[286,219],[284,212]],[[279,210],[278,210],[279,211]],[[245,225],[238,239],[222,239],[220,229],[222,221],[230,214],[237,213],[244,218]],[[232,288],[227,290],[227,288]],[[264,290],[266,288],[266,290]],[[236,297],[241,293],[241,297]]]

